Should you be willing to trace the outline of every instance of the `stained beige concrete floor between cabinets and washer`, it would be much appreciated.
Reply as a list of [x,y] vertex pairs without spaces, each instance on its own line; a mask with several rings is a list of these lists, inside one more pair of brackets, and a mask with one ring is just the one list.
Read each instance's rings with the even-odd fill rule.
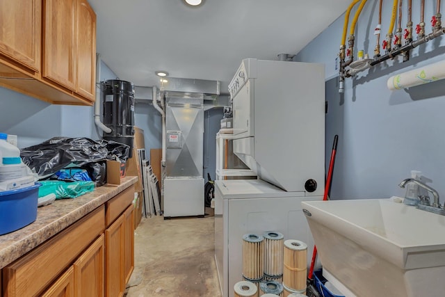
[[213,238],[213,216],[143,218],[134,236],[127,297],[221,296]]

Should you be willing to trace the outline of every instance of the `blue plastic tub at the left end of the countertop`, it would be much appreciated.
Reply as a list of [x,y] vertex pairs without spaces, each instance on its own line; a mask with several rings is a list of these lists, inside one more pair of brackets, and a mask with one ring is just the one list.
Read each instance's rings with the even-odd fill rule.
[[37,218],[39,186],[0,191],[0,235],[19,230]]

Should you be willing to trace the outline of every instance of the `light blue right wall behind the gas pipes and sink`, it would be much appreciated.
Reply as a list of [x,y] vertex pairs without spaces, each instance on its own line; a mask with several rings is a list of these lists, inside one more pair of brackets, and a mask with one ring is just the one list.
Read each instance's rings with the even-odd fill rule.
[[[373,57],[378,1],[373,2],[366,3],[359,17],[355,31],[355,56],[358,47]],[[428,34],[431,32],[429,19],[435,12],[432,2],[435,1],[426,2]],[[380,45],[388,31],[391,13],[389,3],[384,3]],[[412,18],[415,26],[419,23],[420,13],[419,3],[414,3]],[[403,8],[403,29],[405,12],[406,7]],[[414,49],[406,63],[402,63],[401,57],[396,58],[380,63],[354,79],[346,79],[345,93],[339,95],[338,70],[334,69],[334,61],[341,43],[343,20],[343,16],[337,19],[294,58],[295,61],[326,65],[326,167],[334,135],[339,135],[331,198],[403,196],[405,190],[398,184],[410,177],[410,170],[421,170],[423,175],[432,179],[430,185],[444,196],[445,157],[442,150],[445,147],[445,117],[442,112],[445,110],[445,81],[390,91],[387,79],[415,67],[442,61],[445,58],[445,36]]]

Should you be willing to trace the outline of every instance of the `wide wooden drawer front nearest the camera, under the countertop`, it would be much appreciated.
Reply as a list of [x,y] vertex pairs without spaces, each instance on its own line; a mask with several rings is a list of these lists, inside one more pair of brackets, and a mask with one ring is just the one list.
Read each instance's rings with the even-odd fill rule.
[[102,232],[104,207],[99,207],[3,268],[3,297],[40,294]]

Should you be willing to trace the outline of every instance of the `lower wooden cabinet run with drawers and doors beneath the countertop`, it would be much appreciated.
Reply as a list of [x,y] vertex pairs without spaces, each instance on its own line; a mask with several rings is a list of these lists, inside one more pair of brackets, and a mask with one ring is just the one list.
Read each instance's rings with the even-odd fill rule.
[[120,297],[134,268],[130,186],[1,269],[0,297]]

